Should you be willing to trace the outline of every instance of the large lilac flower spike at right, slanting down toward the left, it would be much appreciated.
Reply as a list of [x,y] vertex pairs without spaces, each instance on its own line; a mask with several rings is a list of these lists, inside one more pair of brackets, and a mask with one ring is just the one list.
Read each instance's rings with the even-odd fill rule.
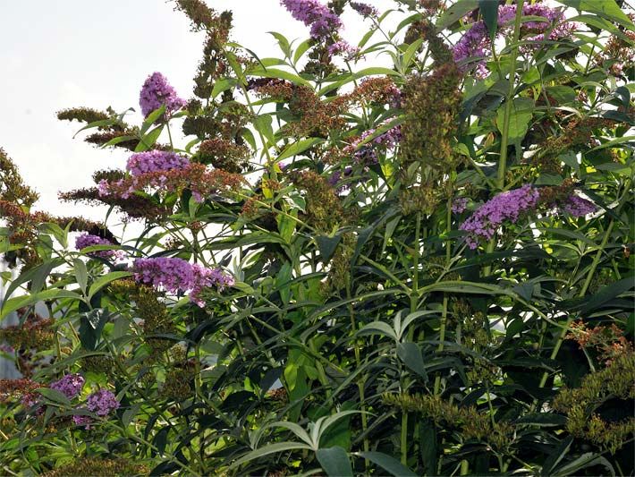
[[478,239],[490,240],[504,222],[515,223],[521,213],[534,209],[540,194],[530,184],[520,189],[502,192],[488,200],[459,227],[468,233],[466,242],[470,249],[476,249]]

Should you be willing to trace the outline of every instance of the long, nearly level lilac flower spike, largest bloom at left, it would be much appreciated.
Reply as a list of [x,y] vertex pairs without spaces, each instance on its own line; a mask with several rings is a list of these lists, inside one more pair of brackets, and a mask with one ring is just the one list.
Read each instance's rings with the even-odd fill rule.
[[220,268],[205,268],[178,258],[137,259],[132,270],[140,283],[163,287],[172,294],[190,292],[190,301],[201,308],[205,306],[200,298],[204,288],[214,286],[223,291],[234,284],[233,277]]

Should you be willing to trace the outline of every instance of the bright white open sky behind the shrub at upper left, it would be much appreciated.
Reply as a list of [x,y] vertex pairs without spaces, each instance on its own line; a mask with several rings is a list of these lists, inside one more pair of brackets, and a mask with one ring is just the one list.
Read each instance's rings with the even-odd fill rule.
[[[233,39],[260,57],[279,55],[269,30],[308,37],[278,0],[208,4],[233,10]],[[351,12],[343,19],[344,37],[357,42],[366,26]],[[60,203],[57,192],[91,185],[95,170],[123,167],[128,156],[123,149],[96,149],[80,136],[72,140],[80,125],[58,121],[55,112],[71,106],[139,110],[141,84],[155,71],[190,98],[203,38],[165,0],[0,0],[0,147],[40,193],[37,209],[103,218],[106,208]],[[140,115],[128,120],[139,124]]]

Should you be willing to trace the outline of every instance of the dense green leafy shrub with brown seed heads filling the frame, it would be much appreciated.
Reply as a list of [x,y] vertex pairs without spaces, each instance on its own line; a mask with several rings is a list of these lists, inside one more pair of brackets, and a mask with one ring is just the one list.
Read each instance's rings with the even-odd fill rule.
[[[179,0],[206,33],[194,98],[139,126],[59,114],[124,158],[189,159],[61,194],[139,236],[31,213],[0,156],[24,375],[0,380],[0,473],[631,475],[633,24],[560,4],[557,39],[531,10],[402,0],[359,50],[274,33],[258,58],[231,13]],[[495,51],[454,63],[478,21]],[[157,258],[233,280],[173,293],[140,280]],[[52,385],[69,374],[79,394]]]

